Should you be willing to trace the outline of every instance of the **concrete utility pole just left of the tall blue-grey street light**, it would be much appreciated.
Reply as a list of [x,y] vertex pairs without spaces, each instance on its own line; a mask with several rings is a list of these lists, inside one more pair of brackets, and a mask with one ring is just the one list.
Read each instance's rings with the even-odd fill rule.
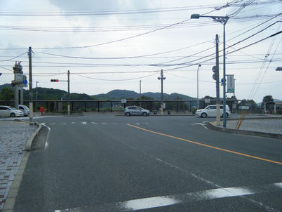
[[215,35],[216,53],[215,53],[215,84],[216,84],[216,125],[220,126],[220,56],[218,34]]

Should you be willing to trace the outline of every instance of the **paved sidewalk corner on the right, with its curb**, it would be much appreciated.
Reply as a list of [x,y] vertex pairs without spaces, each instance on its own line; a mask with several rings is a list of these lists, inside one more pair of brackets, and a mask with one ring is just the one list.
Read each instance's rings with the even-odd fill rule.
[[[248,119],[249,118],[249,119]],[[239,129],[236,129],[238,119],[228,120],[226,128],[222,127],[222,121],[220,126],[216,126],[215,121],[210,122],[209,126],[218,131],[225,131],[229,133],[240,133],[245,135],[260,135],[271,138],[282,138],[282,117],[281,116],[251,116],[247,119],[243,119]]]

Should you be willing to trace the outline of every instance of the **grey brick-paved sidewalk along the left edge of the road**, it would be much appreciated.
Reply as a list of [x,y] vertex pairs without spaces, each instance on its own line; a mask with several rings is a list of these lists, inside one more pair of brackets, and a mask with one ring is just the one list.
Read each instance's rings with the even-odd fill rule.
[[36,128],[21,121],[0,121],[0,211],[25,155],[27,141]]

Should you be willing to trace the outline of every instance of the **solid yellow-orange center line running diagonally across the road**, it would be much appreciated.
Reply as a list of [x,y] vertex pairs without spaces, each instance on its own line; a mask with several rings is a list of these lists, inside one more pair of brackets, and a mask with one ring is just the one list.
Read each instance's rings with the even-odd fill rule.
[[195,145],[201,145],[201,146],[209,147],[209,148],[212,148],[212,149],[215,149],[215,150],[221,150],[221,151],[224,151],[224,152],[230,152],[230,153],[233,153],[233,154],[239,154],[239,155],[242,155],[242,156],[245,156],[245,157],[250,157],[250,158],[258,159],[258,160],[261,160],[261,161],[268,161],[268,162],[271,162],[271,163],[274,163],[274,164],[282,165],[282,162],[279,162],[279,161],[272,161],[272,160],[269,160],[269,159],[264,159],[262,157],[255,157],[255,156],[250,155],[250,154],[243,154],[243,153],[240,153],[240,152],[234,152],[234,151],[231,151],[231,150],[225,150],[225,149],[222,149],[222,148],[219,148],[219,147],[213,147],[213,146],[210,146],[210,145],[205,145],[203,143],[198,143],[198,142],[195,142],[195,141],[192,141],[192,140],[187,140],[187,139],[184,139],[184,138],[178,138],[178,137],[175,137],[173,135],[166,135],[166,134],[163,134],[163,133],[158,133],[158,132],[155,132],[155,131],[150,131],[150,130],[147,130],[145,128],[141,128],[139,126],[134,126],[134,125],[131,125],[131,124],[127,124],[127,125],[135,127],[135,128],[139,128],[142,131],[147,131],[147,132],[150,132],[150,133],[154,133],[154,134],[158,134],[158,135],[163,135],[163,136],[166,136],[166,137],[169,137],[169,138],[175,138],[175,139],[178,139],[178,140],[184,140],[184,141],[187,141],[189,143],[194,143]]

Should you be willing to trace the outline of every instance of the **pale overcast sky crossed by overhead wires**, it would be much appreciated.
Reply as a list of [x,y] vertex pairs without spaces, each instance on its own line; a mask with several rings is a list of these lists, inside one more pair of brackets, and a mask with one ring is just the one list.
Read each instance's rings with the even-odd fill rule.
[[282,72],[275,70],[282,66],[282,34],[267,38],[281,31],[281,11],[281,0],[1,0],[0,84],[13,80],[15,61],[28,74],[31,46],[33,87],[38,81],[39,87],[67,91],[66,82],[50,80],[67,80],[69,70],[72,93],[139,93],[140,80],[142,93],[160,92],[163,69],[163,92],[196,98],[201,64],[199,98],[215,96],[214,41],[218,34],[221,79],[223,25],[190,20],[199,13],[230,16],[226,74],[234,74],[236,98],[282,100]]

